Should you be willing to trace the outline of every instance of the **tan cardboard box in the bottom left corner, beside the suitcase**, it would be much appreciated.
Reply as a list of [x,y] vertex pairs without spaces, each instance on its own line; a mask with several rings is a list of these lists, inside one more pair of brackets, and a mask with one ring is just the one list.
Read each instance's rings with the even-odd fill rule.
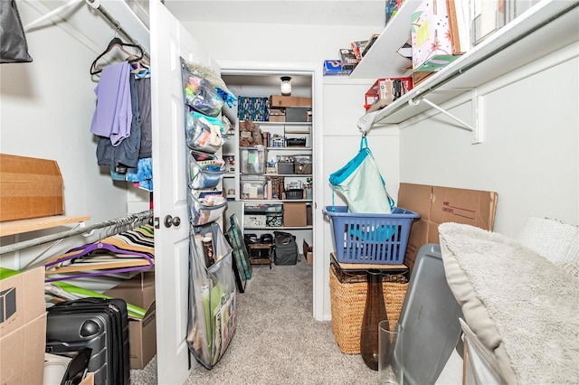
[[46,347],[44,268],[1,279],[0,301],[0,384],[42,384]]

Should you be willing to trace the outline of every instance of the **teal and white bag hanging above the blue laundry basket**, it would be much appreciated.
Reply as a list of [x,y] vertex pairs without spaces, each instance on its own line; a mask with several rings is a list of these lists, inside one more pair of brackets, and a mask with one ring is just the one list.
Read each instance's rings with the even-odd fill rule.
[[344,167],[329,175],[332,185],[332,207],[334,194],[344,197],[350,212],[371,212],[390,214],[394,200],[386,192],[384,178],[368,147],[368,140],[362,136],[360,151]]

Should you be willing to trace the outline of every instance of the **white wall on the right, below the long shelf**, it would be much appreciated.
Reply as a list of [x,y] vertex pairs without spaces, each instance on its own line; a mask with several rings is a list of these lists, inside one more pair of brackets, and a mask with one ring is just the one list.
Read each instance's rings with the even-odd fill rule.
[[[537,64],[546,70],[484,97],[482,144],[470,145],[470,133],[441,115],[404,127],[401,181],[498,192],[494,230],[509,237],[528,216],[578,224],[579,45],[570,48],[518,73]],[[562,56],[574,59],[551,64]],[[451,113],[469,122],[470,103]]]

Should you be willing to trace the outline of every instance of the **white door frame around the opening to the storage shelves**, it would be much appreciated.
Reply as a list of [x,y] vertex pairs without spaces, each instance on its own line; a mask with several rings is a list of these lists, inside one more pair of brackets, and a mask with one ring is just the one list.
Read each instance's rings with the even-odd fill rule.
[[[270,75],[283,73],[284,75],[310,75],[312,78],[312,116],[313,116],[313,164],[314,181],[318,187],[314,189],[313,204],[313,243],[314,255],[323,251],[323,215],[321,213],[323,202],[323,164],[321,162],[324,154],[324,121],[323,121],[323,73],[318,62],[276,62],[276,61],[218,61],[222,69],[222,74],[227,75]],[[318,245],[318,248],[316,247]],[[318,254],[319,255],[319,254]],[[325,258],[314,258],[313,262],[313,308],[312,314],[318,321],[327,321],[324,318],[324,297],[328,295],[329,288],[324,285],[326,281],[324,275],[327,274]]]

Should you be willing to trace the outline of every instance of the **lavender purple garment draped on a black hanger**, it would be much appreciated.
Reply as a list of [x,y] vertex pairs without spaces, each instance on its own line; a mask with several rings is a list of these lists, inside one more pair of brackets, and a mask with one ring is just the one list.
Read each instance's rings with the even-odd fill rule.
[[100,81],[94,89],[97,94],[97,108],[92,116],[90,132],[98,136],[110,137],[112,146],[130,135],[133,118],[130,101],[130,64],[122,61],[102,69]]

